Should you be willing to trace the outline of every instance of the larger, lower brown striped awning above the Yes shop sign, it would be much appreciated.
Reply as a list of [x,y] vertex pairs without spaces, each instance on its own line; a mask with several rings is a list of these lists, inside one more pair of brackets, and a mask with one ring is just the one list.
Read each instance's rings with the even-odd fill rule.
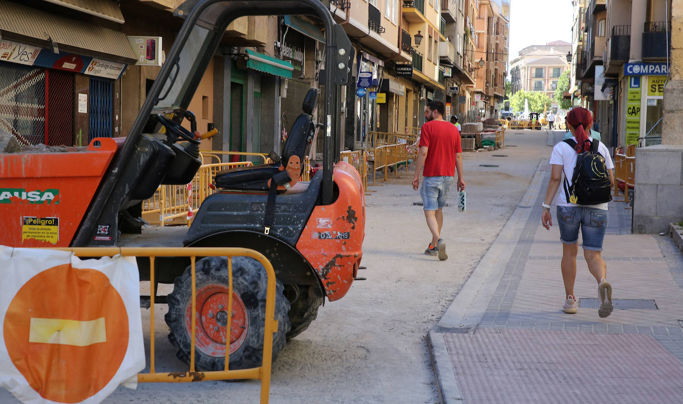
[[0,16],[3,39],[42,48],[50,48],[52,41],[59,46],[60,51],[77,55],[131,64],[137,60],[126,34],[120,31],[6,0],[0,0]]

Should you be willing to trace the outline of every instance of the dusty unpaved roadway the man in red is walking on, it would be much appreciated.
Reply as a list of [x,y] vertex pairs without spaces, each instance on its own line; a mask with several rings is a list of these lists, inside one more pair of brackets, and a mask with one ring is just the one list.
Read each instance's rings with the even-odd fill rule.
[[[421,206],[414,205],[420,201],[410,186],[414,167],[369,187],[367,269],[359,272],[367,280],[320,308],[311,327],[281,352],[273,363],[271,403],[438,401],[426,334],[510,218],[539,160],[550,155],[545,131],[508,131],[505,143],[494,152],[463,154],[467,211],[458,212],[457,192],[451,192],[442,236],[447,261],[423,254],[431,236]],[[167,342],[165,311],[156,308],[157,370],[180,371],[186,368]],[[142,314],[145,325],[149,311]],[[259,386],[258,381],[141,384],[137,391],[118,388],[104,403],[255,403]],[[18,401],[0,390],[0,403]]]

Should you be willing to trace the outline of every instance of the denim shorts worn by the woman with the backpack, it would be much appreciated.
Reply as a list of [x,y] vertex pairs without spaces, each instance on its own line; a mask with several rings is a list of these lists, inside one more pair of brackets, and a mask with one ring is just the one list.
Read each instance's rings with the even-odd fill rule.
[[602,251],[602,240],[607,230],[607,210],[585,206],[558,206],[559,240],[564,244],[579,241],[579,227],[583,249]]

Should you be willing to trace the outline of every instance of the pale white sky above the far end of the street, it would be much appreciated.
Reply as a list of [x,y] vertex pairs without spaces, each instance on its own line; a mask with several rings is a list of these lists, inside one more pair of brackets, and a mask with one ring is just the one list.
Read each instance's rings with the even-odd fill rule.
[[510,61],[529,45],[572,43],[572,19],[571,0],[510,0]]

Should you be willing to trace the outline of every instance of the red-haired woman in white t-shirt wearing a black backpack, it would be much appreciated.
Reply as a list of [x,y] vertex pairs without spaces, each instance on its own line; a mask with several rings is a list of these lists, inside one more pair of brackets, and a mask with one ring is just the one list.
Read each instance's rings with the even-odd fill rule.
[[[566,194],[565,187],[559,186],[562,181],[562,173],[568,182],[567,188],[572,184],[576,157],[581,152],[591,149],[591,142],[599,142],[589,137],[589,128],[593,125],[590,111],[585,108],[574,108],[567,114],[567,126],[576,142],[576,147],[565,141],[561,141],[553,147],[550,156],[552,172],[550,183],[546,191],[546,199],[542,204],[543,213],[541,221],[543,227],[550,230],[553,218],[550,214],[550,203],[553,203],[557,188],[560,189],[557,197],[557,222],[559,223],[560,241],[562,242],[562,278],[566,292],[566,301],[562,310],[568,314],[576,313],[576,297],[574,295],[574,280],[576,279],[576,254],[579,253],[579,228],[583,237],[583,257],[588,264],[588,270],[598,281],[598,300],[600,308],[598,315],[607,317],[612,313],[612,286],[607,282],[607,265],[602,259],[602,241],[607,229],[607,203],[598,205],[578,205],[572,203],[572,198]],[[604,144],[598,145],[598,153],[605,159],[609,177],[614,184],[614,163],[609,151]],[[576,202],[575,200],[573,200]]]

